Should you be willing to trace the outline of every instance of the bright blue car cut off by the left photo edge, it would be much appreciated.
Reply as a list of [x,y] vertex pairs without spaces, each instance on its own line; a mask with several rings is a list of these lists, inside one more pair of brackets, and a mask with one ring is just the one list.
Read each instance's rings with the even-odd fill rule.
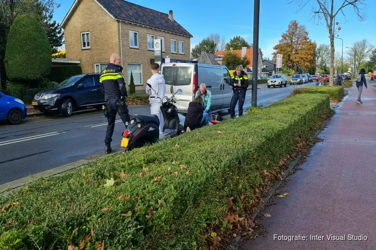
[[25,103],[19,98],[0,92],[0,120],[8,120],[12,125],[20,124],[26,118]]

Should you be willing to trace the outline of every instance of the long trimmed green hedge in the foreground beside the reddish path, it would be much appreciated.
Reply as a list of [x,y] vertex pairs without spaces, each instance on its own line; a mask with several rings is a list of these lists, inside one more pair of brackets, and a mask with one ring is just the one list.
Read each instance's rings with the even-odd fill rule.
[[75,246],[93,233],[87,249],[102,240],[106,249],[196,249],[206,244],[207,225],[218,220],[229,227],[228,198],[235,197],[236,214],[245,215],[262,169],[293,153],[329,110],[327,94],[291,96],[239,119],[40,179],[0,200],[6,210],[0,248],[66,249],[78,228]]

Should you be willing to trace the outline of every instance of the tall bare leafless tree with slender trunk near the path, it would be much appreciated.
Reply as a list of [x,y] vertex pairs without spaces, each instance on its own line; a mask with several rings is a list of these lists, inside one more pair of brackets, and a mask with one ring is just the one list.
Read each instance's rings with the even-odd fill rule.
[[[308,4],[311,0],[288,0],[289,3],[296,2],[299,10],[301,10],[305,5]],[[330,78],[329,78],[329,85],[334,85],[334,18],[335,16],[341,12],[344,15],[343,9],[347,6],[353,7],[355,14],[357,15],[360,21],[367,19],[367,15],[364,12],[366,4],[364,3],[365,0],[341,0],[342,3],[339,5],[337,9],[334,9],[334,0],[316,0],[317,4],[314,3],[314,7],[312,8],[312,20],[317,21],[317,23],[324,20],[327,30],[329,32],[330,37]],[[315,2],[315,0],[312,0]],[[299,12],[299,10],[297,12]]]

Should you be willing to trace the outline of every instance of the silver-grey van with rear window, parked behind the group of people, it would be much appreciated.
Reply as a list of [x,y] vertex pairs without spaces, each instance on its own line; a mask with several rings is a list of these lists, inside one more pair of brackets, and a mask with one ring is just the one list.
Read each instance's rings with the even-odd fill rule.
[[212,111],[230,108],[233,90],[231,75],[226,66],[189,62],[163,63],[161,74],[166,82],[166,96],[171,97],[179,88],[183,90],[182,94],[175,95],[178,112],[186,113],[188,104],[195,99],[201,83],[205,83],[212,92]]

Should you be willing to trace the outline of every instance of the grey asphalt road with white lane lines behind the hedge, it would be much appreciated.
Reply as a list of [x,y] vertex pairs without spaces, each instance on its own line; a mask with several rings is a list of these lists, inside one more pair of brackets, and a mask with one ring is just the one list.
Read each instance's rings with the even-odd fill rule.
[[[290,95],[294,88],[314,85],[258,89],[258,104],[267,105]],[[247,91],[244,108],[251,106]],[[130,106],[130,114],[150,114],[149,106]],[[222,114],[228,114],[227,111]],[[65,118],[29,117],[22,124],[0,123],[0,184],[68,164],[104,150],[106,118],[100,111],[83,111]],[[119,147],[124,124],[117,118],[112,147]]]

